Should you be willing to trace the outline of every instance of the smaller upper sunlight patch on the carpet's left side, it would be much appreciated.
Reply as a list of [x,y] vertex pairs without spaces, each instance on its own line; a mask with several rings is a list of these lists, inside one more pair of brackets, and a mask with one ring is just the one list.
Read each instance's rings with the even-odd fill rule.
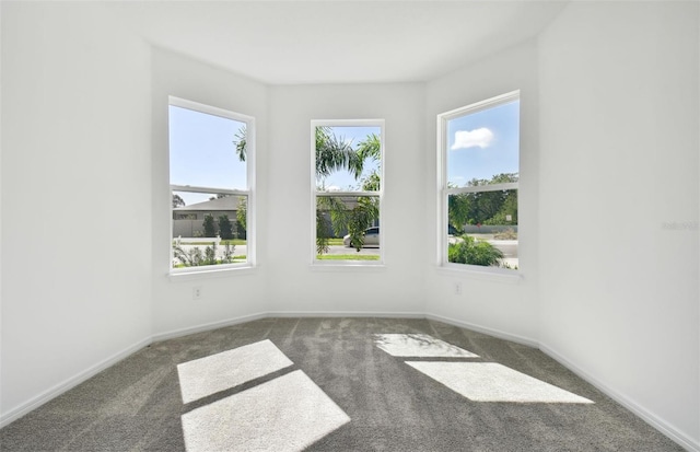
[[292,364],[270,340],[183,362],[177,366],[183,403],[235,387]]

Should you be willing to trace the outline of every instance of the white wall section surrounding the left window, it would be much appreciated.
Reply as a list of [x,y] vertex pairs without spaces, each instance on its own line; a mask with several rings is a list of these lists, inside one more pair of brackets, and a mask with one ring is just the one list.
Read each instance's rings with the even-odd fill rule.
[[[267,88],[171,51],[154,48],[153,82],[153,333],[159,337],[202,325],[226,323],[265,313],[268,244],[260,225],[267,222],[269,161],[267,148]],[[168,95],[229,109],[256,118],[257,224],[259,268],[228,271],[218,277],[168,277],[171,192],[168,182]],[[233,137],[232,137],[233,139]],[[192,288],[202,297],[192,300]]]

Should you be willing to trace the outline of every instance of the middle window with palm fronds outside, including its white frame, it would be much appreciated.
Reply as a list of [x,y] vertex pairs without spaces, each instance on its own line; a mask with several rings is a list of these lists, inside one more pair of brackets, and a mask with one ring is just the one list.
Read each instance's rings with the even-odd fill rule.
[[383,120],[312,121],[313,260],[381,264]]

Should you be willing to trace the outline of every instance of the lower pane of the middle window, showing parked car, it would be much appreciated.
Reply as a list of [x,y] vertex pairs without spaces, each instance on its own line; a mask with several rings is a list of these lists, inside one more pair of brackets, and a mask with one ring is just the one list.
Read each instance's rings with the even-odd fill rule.
[[380,197],[316,197],[316,258],[380,259]]

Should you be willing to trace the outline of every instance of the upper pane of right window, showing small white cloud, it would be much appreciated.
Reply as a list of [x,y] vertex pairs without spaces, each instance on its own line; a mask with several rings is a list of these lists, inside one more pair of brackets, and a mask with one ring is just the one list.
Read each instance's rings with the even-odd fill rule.
[[520,101],[447,120],[447,186],[517,182]]

